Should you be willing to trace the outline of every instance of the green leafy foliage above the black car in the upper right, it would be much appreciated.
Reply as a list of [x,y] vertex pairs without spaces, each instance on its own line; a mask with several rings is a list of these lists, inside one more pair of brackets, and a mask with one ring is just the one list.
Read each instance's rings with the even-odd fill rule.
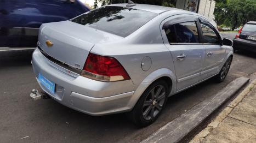
[[256,21],[255,0],[217,1],[214,10],[218,25],[234,28],[244,25],[248,21]]

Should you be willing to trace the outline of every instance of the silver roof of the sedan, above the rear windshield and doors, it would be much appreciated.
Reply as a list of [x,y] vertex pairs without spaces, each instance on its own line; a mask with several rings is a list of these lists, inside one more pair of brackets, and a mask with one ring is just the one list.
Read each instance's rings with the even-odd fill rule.
[[[127,7],[127,3],[111,4],[111,5],[107,5],[107,6]],[[136,3],[136,5],[134,5],[133,7],[130,7],[130,8],[150,11],[152,13],[157,13],[157,14],[161,14],[161,13],[164,13],[165,11],[169,11],[169,10],[181,10],[181,9],[170,8],[170,7],[162,7],[162,6],[158,6],[158,5],[137,4],[137,3]]]

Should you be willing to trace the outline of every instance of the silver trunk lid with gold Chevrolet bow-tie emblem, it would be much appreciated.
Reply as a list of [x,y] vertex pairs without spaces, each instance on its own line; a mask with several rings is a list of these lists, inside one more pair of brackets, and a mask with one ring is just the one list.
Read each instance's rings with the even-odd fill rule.
[[[83,69],[86,58],[95,44],[119,40],[122,37],[71,21],[46,23],[40,27],[38,46],[50,57]],[[46,41],[53,45],[48,46]]]

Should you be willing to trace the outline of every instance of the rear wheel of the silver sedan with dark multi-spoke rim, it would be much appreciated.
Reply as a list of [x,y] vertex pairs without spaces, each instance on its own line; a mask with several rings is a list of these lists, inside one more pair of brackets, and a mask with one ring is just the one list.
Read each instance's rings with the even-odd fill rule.
[[163,80],[153,82],[130,112],[133,122],[140,127],[155,122],[166,104],[168,91],[168,86]]

